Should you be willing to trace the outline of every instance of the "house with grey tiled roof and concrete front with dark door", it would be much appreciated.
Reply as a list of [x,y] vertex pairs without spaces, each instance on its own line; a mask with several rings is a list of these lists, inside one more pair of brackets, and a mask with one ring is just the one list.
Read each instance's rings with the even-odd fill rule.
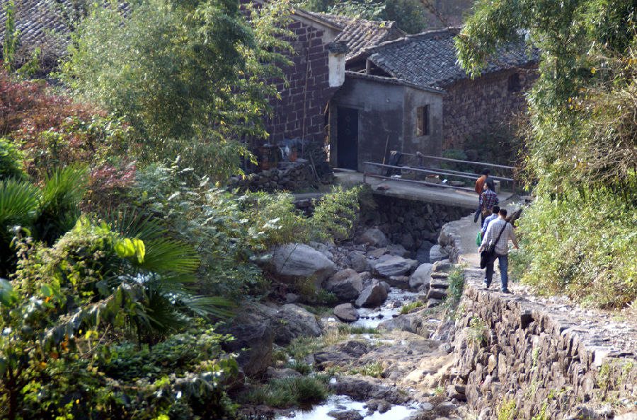
[[330,161],[362,170],[387,151],[440,156],[524,109],[537,53],[499,54],[471,79],[457,64],[454,29],[431,30],[364,49],[345,64],[331,100]]

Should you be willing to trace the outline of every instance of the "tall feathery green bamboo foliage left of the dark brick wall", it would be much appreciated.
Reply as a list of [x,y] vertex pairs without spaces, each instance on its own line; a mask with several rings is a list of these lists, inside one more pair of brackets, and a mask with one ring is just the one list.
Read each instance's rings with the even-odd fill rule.
[[239,140],[267,136],[286,13],[282,2],[243,12],[236,0],[133,1],[130,13],[98,4],[61,76],[127,117],[149,161],[181,155],[200,173],[229,176],[249,155]]

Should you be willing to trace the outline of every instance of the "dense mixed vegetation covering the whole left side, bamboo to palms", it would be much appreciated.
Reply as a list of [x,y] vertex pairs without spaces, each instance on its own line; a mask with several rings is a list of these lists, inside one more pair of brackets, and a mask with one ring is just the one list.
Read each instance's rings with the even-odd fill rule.
[[307,218],[217,183],[263,134],[285,3],[96,4],[65,86],[0,70],[0,418],[234,419],[219,322],[276,288],[272,247],[349,238],[359,189]]

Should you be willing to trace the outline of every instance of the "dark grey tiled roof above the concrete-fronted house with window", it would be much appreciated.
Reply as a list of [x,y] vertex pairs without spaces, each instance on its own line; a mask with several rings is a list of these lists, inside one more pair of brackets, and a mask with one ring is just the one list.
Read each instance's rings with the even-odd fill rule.
[[[418,35],[384,42],[363,52],[369,60],[394,78],[409,81],[417,86],[440,89],[467,78],[457,64],[454,36],[457,30],[432,30]],[[537,62],[538,53],[529,56],[523,42],[498,54],[490,60],[483,74],[513,69]]]

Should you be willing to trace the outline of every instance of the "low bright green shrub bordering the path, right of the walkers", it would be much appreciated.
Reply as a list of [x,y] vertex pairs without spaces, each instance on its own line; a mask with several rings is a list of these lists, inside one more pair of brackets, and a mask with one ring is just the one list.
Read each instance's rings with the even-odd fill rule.
[[542,294],[622,308],[637,298],[636,221],[632,204],[603,189],[539,197],[519,221],[512,273]]

